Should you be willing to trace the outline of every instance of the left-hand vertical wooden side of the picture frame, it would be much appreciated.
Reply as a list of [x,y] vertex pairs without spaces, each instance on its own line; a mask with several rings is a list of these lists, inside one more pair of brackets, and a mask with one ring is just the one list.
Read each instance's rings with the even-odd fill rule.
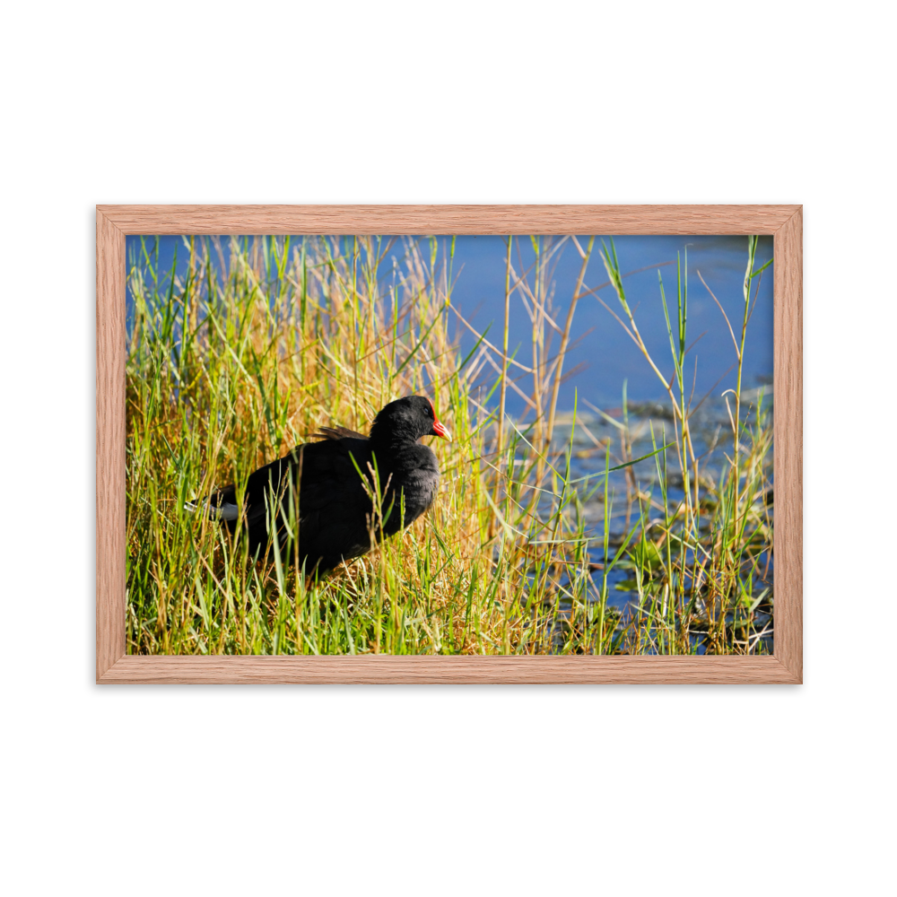
[[97,212],[97,676],[125,653],[125,234]]

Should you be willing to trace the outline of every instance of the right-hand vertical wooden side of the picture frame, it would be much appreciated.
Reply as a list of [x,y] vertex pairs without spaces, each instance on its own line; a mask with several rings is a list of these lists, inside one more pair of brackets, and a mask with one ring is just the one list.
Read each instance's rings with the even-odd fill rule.
[[775,633],[773,651],[804,681],[804,210],[776,231]]

